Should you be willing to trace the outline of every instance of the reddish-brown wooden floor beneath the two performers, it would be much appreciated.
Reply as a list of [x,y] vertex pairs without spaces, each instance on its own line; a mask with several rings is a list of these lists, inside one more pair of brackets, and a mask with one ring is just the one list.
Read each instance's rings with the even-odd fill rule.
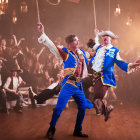
[[[26,107],[22,114],[0,114],[0,140],[45,140],[53,108]],[[76,115],[76,105],[71,102],[58,120],[55,140],[84,139],[72,136]],[[104,122],[103,116],[96,116],[94,109],[87,110],[83,132],[89,135],[85,138],[89,140],[140,140],[140,105],[116,105],[108,122]]]

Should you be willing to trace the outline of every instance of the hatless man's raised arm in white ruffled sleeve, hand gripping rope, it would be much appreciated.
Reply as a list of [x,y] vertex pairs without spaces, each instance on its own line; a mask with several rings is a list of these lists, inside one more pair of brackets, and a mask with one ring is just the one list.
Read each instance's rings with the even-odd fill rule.
[[57,46],[49,39],[49,37],[44,33],[44,26],[39,23],[38,24],[38,31],[41,36],[38,38],[38,42],[44,44],[51,53],[53,53],[57,58],[65,60],[67,57],[67,53]]

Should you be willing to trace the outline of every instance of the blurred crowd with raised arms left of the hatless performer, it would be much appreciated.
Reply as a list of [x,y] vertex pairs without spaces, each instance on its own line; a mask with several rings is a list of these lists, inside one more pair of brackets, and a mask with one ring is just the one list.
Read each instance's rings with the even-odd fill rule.
[[63,63],[45,47],[26,46],[25,41],[24,38],[17,41],[15,35],[10,41],[1,40],[1,82],[4,84],[13,65],[16,64],[22,69],[20,75],[27,85],[32,86],[35,91],[37,88],[47,88],[57,80],[57,74],[62,69]]

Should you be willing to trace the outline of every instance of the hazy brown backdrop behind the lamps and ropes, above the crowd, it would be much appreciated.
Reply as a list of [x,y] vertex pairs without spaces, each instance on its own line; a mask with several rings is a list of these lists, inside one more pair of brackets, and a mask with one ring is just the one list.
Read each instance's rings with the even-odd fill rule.
[[[0,34],[9,38],[16,34],[18,38],[25,37],[29,42],[36,41],[37,10],[36,0],[24,0],[28,5],[28,13],[20,12],[22,0],[9,0],[8,10],[0,16]],[[110,0],[111,30],[118,34],[121,42],[135,42],[140,44],[140,1],[139,0]],[[93,0],[80,0],[78,4],[61,0],[58,6],[52,6],[46,0],[38,0],[41,22],[45,31],[52,38],[65,37],[68,34],[77,34],[86,41],[94,36]],[[114,11],[120,4],[121,15],[115,16]],[[17,23],[12,23],[12,11],[17,14]],[[107,30],[109,24],[109,0],[96,0],[97,26],[100,30]],[[125,22],[130,16],[133,20],[131,27]]]

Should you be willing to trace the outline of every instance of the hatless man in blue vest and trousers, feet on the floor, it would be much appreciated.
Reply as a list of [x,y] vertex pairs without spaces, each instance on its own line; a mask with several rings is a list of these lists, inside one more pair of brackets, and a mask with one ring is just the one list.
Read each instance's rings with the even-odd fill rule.
[[64,110],[69,98],[73,96],[78,106],[77,120],[73,136],[88,137],[82,133],[82,122],[84,120],[86,108],[92,108],[93,104],[85,98],[81,79],[87,76],[88,60],[85,52],[79,49],[79,40],[76,35],[66,37],[68,48],[60,48],[44,33],[42,24],[38,24],[38,30],[41,33],[38,41],[43,43],[49,50],[64,62],[64,79],[61,84],[61,91],[58,97],[57,105],[53,111],[50,127],[47,131],[46,138],[52,139],[55,133],[55,126],[61,112]]

